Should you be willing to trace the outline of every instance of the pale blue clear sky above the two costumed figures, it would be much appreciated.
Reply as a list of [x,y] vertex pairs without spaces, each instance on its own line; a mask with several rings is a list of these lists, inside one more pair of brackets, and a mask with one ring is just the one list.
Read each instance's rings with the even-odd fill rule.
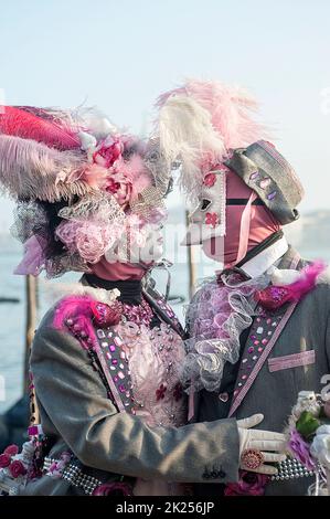
[[[7,104],[103,109],[145,134],[184,77],[248,88],[301,177],[302,211],[329,208],[329,0],[11,0],[0,7]],[[0,232],[11,222],[0,198]]]

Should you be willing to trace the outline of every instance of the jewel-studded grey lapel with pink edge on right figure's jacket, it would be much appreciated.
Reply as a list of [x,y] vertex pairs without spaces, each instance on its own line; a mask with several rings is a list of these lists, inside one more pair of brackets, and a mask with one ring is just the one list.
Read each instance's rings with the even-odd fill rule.
[[[301,267],[299,263],[300,256],[290,247],[278,268],[299,269],[299,266]],[[233,416],[252,388],[296,306],[296,303],[285,305],[276,313],[267,313],[257,307],[242,356],[228,416]]]

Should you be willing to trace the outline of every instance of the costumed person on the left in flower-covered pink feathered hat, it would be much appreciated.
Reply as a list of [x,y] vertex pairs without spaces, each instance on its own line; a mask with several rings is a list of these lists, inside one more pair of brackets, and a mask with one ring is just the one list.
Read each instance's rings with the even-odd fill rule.
[[279,451],[283,435],[254,433],[260,416],[187,425],[183,331],[149,276],[171,180],[159,145],[91,110],[2,108],[0,182],[25,247],[17,274],[83,277],[35,333],[30,441],[0,455],[1,491],[183,495],[209,474],[236,481],[243,446]]

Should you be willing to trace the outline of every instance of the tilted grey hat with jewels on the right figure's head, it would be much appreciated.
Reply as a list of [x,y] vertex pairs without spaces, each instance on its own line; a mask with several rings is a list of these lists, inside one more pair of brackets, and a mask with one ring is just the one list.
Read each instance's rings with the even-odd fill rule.
[[225,165],[257,193],[283,225],[299,218],[296,208],[304,197],[304,188],[274,145],[258,140],[247,148],[236,149]]

